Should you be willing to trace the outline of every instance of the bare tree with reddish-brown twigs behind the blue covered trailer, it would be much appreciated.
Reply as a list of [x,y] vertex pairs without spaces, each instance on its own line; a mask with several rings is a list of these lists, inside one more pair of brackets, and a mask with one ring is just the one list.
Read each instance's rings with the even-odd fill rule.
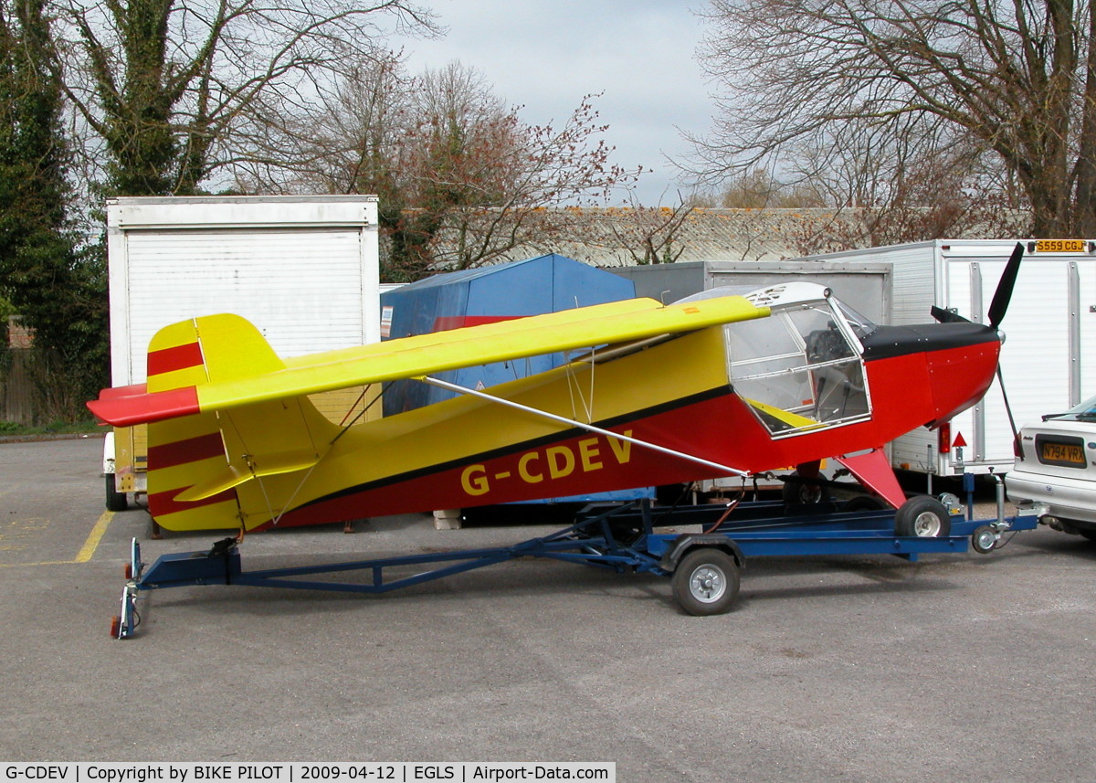
[[578,223],[546,207],[601,203],[630,182],[608,162],[591,101],[558,128],[529,125],[479,71],[454,63],[411,78],[392,56],[363,64],[318,115],[283,125],[273,146],[292,139],[297,155],[272,155],[285,164],[252,169],[248,182],[377,194],[391,280],[466,269]]

